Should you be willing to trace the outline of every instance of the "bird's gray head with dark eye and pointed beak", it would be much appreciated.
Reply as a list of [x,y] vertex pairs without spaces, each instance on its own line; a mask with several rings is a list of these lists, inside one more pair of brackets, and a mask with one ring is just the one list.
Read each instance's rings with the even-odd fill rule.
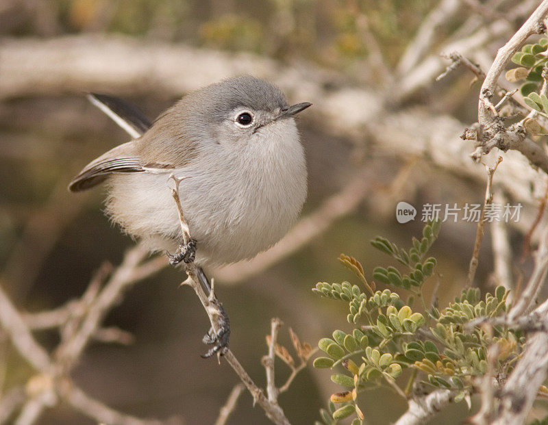
[[[245,146],[269,134],[294,129],[295,114],[311,103],[288,106],[273,84],[251,75],[225,79],[185,96],[177,109],[192,114],[195,131],[219,144]],[[295,130],[296,133],[296,130]]]

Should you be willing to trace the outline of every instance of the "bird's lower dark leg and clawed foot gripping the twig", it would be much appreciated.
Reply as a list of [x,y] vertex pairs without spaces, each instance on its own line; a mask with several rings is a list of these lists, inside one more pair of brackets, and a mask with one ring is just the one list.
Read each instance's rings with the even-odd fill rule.
[[197,268],[198,271],[198,280],[203,287],[203,290],[208,294],[208,299],[210,301],[210,306],[208,308],[213,310],[213,313],[217,320],[217,331],[214,331],[213,326],[210,328],[208,333],[204,335],[202,341],[204,344],[214,344],[205,355],[202,355],[204,359],[211,357],[216,352],[222,356],[228,350],[228,339],[230,337],[230,322],[228,320],[228,315],[223,309],[223,305],[214,293],[214,288],[212,287],[208,276],[203,272],[201,267]]

